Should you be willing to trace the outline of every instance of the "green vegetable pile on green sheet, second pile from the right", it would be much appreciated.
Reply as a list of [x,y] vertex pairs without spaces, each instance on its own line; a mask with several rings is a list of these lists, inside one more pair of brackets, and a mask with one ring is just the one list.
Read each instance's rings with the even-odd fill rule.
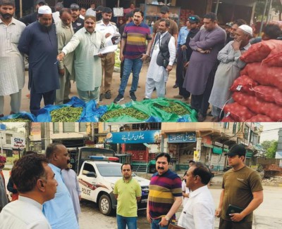
[[126,108],[119,108],[116,110],[110,110],[109,112],[106,112],[99,122],[106,122],[106,120],[121,117],[128,115],[130,117],[134,117],[135,119],[145,120],[149,118],[149,115],[144,114],[143,112],[140,112],[139,110],[136,110],[132,107],[126,107]]

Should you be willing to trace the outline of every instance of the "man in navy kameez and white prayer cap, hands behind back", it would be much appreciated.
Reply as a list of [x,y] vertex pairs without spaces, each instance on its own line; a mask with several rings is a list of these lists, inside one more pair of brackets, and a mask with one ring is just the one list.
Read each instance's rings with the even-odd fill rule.
[[30,112],[37,115],[42,98],[44,105],[53,105],[59,89],[58,43],[49,6],[38,8],[38,20],[25,28],[18,49],[29,56]]

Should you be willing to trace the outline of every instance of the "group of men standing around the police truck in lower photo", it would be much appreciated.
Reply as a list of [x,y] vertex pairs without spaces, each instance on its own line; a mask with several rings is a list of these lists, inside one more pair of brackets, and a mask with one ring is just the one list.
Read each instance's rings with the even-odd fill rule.
[[[183,204],[178,219],[181,228],[214,229],[217,216],[220,229],[251,229],[252,212],[263,202],[261,178],[257,171],[245,165],[243,145],[233,145],[226,156],[232,169],[223,175],[219,207],[215,209],[208,187],[212,178],[209,168],[190,161],[183,182],[169,169],[171,156],[159,153],[157,172],[149,183],[147,221],[150,228],[166,229],[170,224],[175,225],[176,211]],[[75,187],[75,172],[67,169],[69,159],[68,150],[60,143],[48,145],[45,155],[28,152],[11,171],[18,200],[8,203],[1,172],[6,158],[0,156],[0,228],[79,228],[80,192]],[[114,185],[118,229],[137,229],[141,186],[132,176],[131,164],[122,164],[121,174],[123,177]]]

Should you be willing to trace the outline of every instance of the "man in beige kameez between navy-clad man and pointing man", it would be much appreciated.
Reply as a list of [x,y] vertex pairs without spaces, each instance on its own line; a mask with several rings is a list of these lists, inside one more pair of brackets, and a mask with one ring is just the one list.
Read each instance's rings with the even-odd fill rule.
[[[63,8],[60,11],[60,20],[56,24],[56,32],[58,39],[58,53],[66,46],[73,37],[73,26],[71,25],[71,10]],[[56,104],[63,104],[68,102],[69,94],[71,92],[71,79],[75,79],[75,71],[73,69],[74,53],[68,53],[63,61],[59,62],[59,79],[60,89],[56,90]]]

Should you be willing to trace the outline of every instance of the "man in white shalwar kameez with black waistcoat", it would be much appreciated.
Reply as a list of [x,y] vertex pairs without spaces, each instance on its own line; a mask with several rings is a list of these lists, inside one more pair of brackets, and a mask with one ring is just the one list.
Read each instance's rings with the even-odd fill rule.
[[[151,61],[149,64],[145,88],[145,99],[149,99],[152,96],[154,87],[157,90],[157,97],[164,97],[166,93],[166,81],[168,80],[168,73],[172,70],[174,60],[176,58],[176,43],[174,37],[168,33],[169,21],[161,19],[159,22],[159,32],[156,35],[154,46],[152,47]],[[162,53],[164,61],[168,61],[168,65],[158,64],[158,58]],[[165,64],[166,65],[166,64]]]

